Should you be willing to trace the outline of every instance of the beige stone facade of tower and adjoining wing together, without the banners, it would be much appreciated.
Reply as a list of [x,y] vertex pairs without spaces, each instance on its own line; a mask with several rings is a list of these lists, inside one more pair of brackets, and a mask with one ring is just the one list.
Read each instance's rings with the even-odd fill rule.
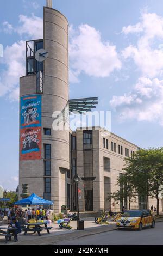
[[[80,211],[119,211],[123,202],[115,204],[106,199],[108,193],[118,190],[117,178],[123,174],[124,157],[131,156],[138,147],[100,127],[75,132],[52,129],[53,112],[62,111],[69,99],[68,22],[59,11],[48,7],[44,7],[42,42],[48,58],[43,64],[41,159],[20,161],[19,196],[22,184],[28,184],[30,194],[54,201],[55,212],[60,212],[62,205],[76,211],[77,188],[73,178],[78,173],[82,178]],[[37,94],[36,72],[28,74],[26,70],[26,76],[20,78],[20,99],[33,94]],[[51,134],[45,134],[45,129],[50,129]],[[51,145],[49,159],[45,157],[45,145]],[[50,168],[46,173],[47,162]],[[156,202],[150,199],[149,205],[152,204]],[[138,205],[136,200],[131,207],[138,208]]]

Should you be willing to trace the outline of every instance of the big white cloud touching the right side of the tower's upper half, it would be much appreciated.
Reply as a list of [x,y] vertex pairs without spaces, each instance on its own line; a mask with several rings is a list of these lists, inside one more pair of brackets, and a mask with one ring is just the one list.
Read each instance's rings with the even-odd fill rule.
[[77,30],[70,27],[70,66],[73,82],[82,72],[92,77],[108,77],[115,69],[121,69],[121,61],[116,46],[103,42],[101,33],[85,24]]

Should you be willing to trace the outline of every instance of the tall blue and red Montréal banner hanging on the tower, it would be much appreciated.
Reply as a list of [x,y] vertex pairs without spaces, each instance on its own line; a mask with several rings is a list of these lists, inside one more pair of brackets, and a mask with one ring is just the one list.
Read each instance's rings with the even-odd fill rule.
[[21,97],[20,160],[41,159],[41,95]]

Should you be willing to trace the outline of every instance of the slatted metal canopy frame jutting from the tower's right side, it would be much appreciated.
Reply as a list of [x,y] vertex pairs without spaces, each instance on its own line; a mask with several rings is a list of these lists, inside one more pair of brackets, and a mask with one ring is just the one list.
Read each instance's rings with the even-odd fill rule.
[[98,97],[84,98],[84,99],[72,99],[68,101],[69,113],[80,113],[91,112],[93,108],[96,108],[98,104]]

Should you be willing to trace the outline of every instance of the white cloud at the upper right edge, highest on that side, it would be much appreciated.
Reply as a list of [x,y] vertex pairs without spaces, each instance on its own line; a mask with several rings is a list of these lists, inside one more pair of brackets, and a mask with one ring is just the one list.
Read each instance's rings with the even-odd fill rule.
[[142,76],[154,78],[162,75],[163,52],[159,42],[163,39],[163,18],[155,13],[142,13],[141,22],[123,27],[122,33],[139,35],[136,45],[130,44],[122,51],[123,57],[133,59]]

